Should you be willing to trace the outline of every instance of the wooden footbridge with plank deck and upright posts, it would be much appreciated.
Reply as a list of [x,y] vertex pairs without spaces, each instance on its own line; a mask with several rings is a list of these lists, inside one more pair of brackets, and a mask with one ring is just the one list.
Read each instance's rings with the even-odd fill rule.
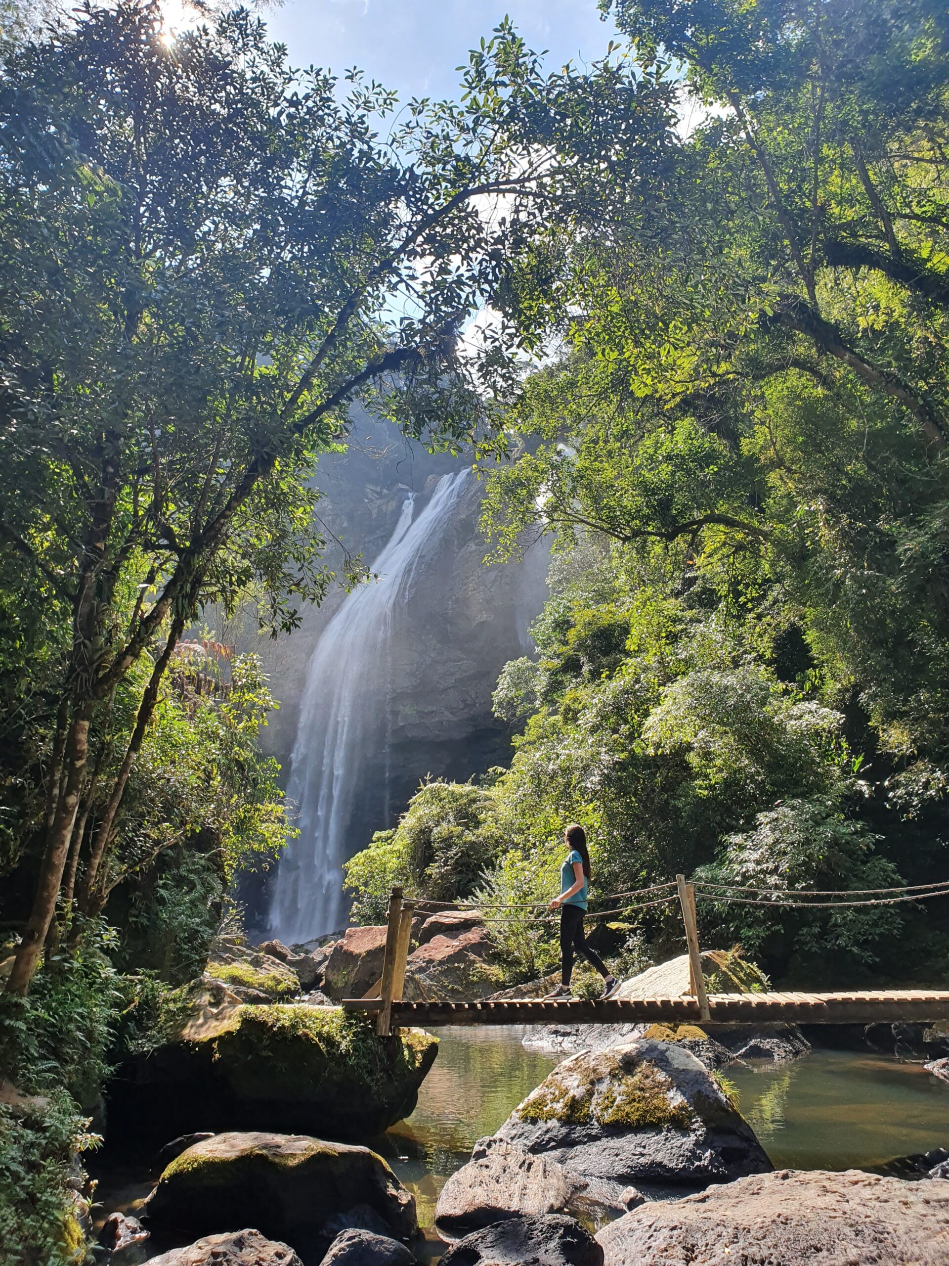
[[[396,1028],[437,1028],[443,1024],[873,1024],[949,1020],[949,990],[707,994],[696,932],[695,889],[686,884],[682,875],[677,876],[674,886],[686,929],[691,994],[602,1001],[405,1001],[402,989],[418,903],[402,900],[402,891],[396,887],[388,904],[378,996],[344,999],[343,1006],[349,1012],[375,1015],[376,1032],[383,1036]],[[941,889],[934,895],[943,895]]]

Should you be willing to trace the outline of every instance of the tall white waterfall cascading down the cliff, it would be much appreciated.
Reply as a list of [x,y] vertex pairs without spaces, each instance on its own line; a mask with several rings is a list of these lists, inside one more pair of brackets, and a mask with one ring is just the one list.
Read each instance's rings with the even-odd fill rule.
[[[467,475],[443,476],[415,520],[415,498],[406,498],[395,532],[372,563],[380,579],[348,595],[310,657],[288,786],[300,834],[281,858],[271,906],[273,931],[290,944],[345,922],[340,867],[367,843],[349,838],[349,822],[357,798],[362,801],[369,790],[378,790],[367,786],[373,767],[381,760],[385,781],[388,765],[392,617],[411,596]],[[387,804],[385,787],[382,804]]]

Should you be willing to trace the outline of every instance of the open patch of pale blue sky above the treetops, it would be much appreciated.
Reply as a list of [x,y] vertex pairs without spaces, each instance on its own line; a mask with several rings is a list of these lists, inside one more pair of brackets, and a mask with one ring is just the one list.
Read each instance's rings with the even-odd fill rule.
[[505,14],[552,68],[601,57],[615,35],[596,0],[287,0],[264,16],[297,66],[359,66],[407,100],[456,95],[456,67]]

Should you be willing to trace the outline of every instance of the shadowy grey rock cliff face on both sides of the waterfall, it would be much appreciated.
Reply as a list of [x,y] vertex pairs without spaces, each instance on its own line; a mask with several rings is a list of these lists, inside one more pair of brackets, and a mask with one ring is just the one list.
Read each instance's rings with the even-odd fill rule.
[[[329,565],[338,570],[344,551],[372,563],[400,523],[406,499],[414,495],[418,518],[438,481],[466,465],[409,444],[388,424],[358,420],[348,452],[324,458],[316,476]],[[521,563],[486,567],[477,527],[482,491],[469,475],[391,613],[386,698],[378,708],[385,724],[363,744],[359,794],[347,815],[347,856],[363,848],[373,830],[395,824],[428,774],[468,779],[507,756],[509,737],[491,714],[491,693],[504,663],[529,648],[528,629],[547,592],[547,552],[534,547]],[[240,649],[262,656],[281,701],[262,741],[281,762],[285,785],[294,777],[307,665],[344,600],[344,591],[334,589],[320,608],[302,611],[297,630],[276,642],[247,627],[230,634]],[[367,668],[378,674],[377,665]],[[251,904],[266,927],[268,896],[257,894]]]

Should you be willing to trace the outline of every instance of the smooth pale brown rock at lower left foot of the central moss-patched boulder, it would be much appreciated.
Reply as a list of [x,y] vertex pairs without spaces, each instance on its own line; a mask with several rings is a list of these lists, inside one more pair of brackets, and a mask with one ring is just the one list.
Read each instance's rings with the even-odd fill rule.
[[442,1188],[435,1227],[444,1239],[459,1239],[515,1214],[559,1213],[585,1186],[545,1156],[500,1138],[482,1138],[471,1161]]

